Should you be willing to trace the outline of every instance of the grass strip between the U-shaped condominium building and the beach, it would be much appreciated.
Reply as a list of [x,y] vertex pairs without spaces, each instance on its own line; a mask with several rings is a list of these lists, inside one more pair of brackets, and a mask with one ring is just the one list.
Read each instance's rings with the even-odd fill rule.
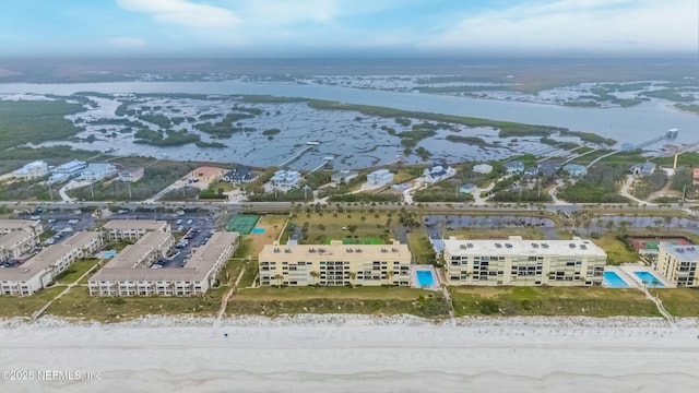
[[119,322],[147,314],[215,315],[228,287],[193,297],[94,297],[86,287],[74,287],[55,301],[46,314],[99,322]]

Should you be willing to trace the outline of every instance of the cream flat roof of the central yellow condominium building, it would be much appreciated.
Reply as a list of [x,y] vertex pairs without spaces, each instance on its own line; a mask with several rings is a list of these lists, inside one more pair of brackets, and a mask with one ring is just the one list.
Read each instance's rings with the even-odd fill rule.
[[259,260],[280,261],[405,261],[412,254],[407,245],[343,245],[333,240],[330,245],[266,245],[260,252]]

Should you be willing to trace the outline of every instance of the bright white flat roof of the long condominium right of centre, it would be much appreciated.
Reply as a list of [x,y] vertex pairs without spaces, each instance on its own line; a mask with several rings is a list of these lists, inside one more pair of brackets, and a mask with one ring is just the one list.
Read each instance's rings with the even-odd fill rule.
[[606,257],[604,250],[590,240],[455,240],[445,239],[445,251],[452,255],[587,255]]

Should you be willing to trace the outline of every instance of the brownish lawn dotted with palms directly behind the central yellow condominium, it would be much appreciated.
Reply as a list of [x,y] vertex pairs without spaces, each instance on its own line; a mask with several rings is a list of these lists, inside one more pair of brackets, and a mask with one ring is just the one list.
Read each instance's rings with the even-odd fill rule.
[[[364,218],[363,218],[364,217]],[[368,207],[366,211],[306,213],[298,212],[292,215],[289,223],[297,227],[307,227],[303,243],[325,243],[331,239],[344,239],[346,237],[358,238],[387,238],[393,237],[389,230],[398,227],[398,213],[377,211]],[[346,227],[347,229],[342,229]],[[356,227],[356,229],[355,229]],[[354,230],[351,230],[354,229]]]

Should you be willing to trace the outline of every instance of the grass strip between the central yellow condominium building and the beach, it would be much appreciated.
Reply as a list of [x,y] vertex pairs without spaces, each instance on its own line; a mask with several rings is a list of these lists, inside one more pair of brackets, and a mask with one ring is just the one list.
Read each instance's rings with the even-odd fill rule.
[[228,301],[228,314],[296,313],[415,314],[446,317],[441,294],[404,287],[264,287],[239,290]]

